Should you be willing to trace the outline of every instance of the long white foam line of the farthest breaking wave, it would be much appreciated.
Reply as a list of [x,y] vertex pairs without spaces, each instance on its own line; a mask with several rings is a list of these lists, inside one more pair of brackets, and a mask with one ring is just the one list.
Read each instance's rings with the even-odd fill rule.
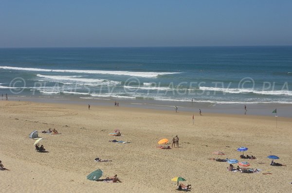
[[89,73],[89,74],[112,74],[112,75],[126,75],[137,77],[157,77],[158,75],[176,74],[181,72],[135,72],[135,71],[109,71],[109,70],[53,70],[53,69],[38,69],[38,68],[20,68],[0,66],[0,69],[11,70],[26,70],[26,71],[52,71],[52,72],[72,72],[72,73]]

